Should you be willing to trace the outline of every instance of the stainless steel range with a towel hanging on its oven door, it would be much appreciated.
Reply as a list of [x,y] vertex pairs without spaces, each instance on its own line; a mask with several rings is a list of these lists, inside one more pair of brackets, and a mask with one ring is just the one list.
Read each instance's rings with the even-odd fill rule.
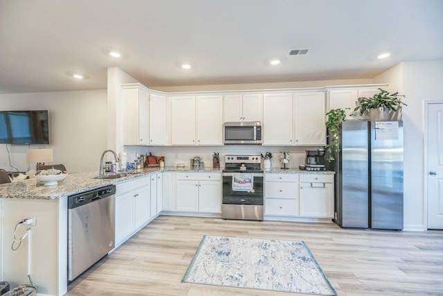
[[[224,219],[263,220],[263,171],[260,155],[226,155],[223,170],[221,216]],[[236,174],[253,177],[252,189],[233,188]],[[249,175],[250,174],[250,175]]]

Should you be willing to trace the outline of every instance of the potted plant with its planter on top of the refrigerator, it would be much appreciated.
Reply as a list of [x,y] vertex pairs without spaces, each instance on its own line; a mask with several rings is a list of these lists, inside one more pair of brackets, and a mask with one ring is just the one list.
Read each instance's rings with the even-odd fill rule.
[[401,101],[404,95],[395,92],[390,94],[388,91],[379,88],[379,93],[374,94],[370,98],[358,98],[357,107],[354,109],[354,114],[352,115],[363,115],[363,113],[368,110],[371,121],[388,121],[388,120],[400,120],[401,105],[405,105]]

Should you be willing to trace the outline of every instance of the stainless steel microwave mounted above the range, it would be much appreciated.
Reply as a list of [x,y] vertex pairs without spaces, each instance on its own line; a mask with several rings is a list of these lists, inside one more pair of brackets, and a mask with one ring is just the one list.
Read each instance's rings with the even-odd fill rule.
[[260,121],[224,123],[225,144],[262,144],[262,123]]

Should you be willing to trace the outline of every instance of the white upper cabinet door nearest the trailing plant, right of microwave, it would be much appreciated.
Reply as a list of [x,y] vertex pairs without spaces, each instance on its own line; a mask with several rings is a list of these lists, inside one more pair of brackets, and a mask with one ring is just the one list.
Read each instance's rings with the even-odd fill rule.
[[326,145],[325,93],[294,94],[296,145]]

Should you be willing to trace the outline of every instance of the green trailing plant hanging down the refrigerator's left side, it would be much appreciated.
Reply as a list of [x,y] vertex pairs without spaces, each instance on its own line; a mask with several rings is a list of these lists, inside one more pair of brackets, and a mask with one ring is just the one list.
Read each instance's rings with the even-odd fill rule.
[[329,112],[326,113],[327,121],[326,121],[326,128],[328,130],[327,137],[331,137],[329,139],[329,143],[325,146],[326,153],[328,155],[327,161],[332,162],[335,160],[335,158],[332,156],[332,150],[334,150],[336,153],[340,152],[340,124],[343,121],[346,121],[346,114],[345,110],[338,108],[338,109],[332,109],[329,110]]

